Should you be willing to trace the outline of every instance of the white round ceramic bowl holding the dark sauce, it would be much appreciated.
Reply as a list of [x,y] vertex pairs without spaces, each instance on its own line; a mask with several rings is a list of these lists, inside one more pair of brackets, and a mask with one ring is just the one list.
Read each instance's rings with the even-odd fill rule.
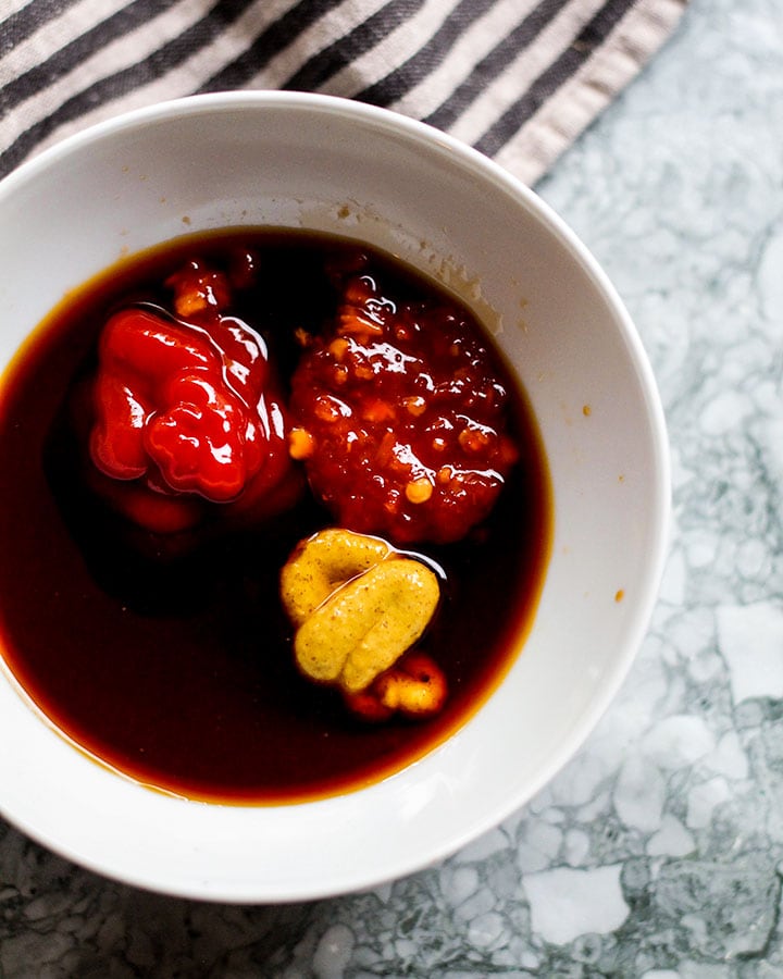
[[669,510],[650,369],[586,249],[476,152],[339,99],[235,92],[170,102],[98,125],[7,177],[0,368],[63,294],[121,256],[186,232],[260,224],[363,239],[473,306],[537,417],[555,536],[523,655],[485,706],[417,764],[341,796],[226,806],[150,791],[75,749],[0,670],[0,810],[12,823],[115,879],[238,902],[400,877],[530,800],[573,756],[631,666]]

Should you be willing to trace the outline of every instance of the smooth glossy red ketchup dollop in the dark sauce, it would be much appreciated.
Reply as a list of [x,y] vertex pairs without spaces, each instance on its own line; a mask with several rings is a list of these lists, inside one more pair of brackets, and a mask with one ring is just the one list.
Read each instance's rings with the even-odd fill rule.
[[176,311],[190,320],[151,305],[109,319],[89,436],[100,472],[133,481],[124,490],[104,483],[107,497],[157,533],[197,522],[194,495],[225,504],[247,491],[260,508],[291,468],[266,345],[223,314],[232,301],[227,277],[194,261],[167,282]]

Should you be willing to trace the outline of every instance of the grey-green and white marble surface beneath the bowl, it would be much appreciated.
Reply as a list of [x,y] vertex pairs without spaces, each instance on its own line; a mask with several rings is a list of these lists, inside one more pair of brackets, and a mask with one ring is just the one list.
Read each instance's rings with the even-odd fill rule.
[[0,822],[0,979],[783,977],[780,0],[693,0],[538,189],[624,297],[670,426],[671,556],[614,705],[496,830],[332,901],[171,900]]

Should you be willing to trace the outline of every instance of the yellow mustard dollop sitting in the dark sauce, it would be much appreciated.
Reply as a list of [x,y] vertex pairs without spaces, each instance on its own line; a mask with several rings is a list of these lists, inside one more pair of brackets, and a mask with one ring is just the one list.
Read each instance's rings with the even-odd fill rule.
[[296,625],[299,668],[349,695],[421,639],[440,597],[434,571],[421,561],[341,529],[321,531],[296,548],[281,591]]

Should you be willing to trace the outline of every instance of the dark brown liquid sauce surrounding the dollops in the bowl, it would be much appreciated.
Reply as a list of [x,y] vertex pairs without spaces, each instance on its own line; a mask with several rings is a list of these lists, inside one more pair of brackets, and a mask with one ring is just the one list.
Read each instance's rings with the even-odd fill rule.
[[[30,698],[98,759],[190,798],[278,803],[376,781],[475,712],[530,625],[551,506],[535,422],[518,392],[522,459],[489,520],[469,541],[420,548],[447,574],[426,650],[450,687],[446,709],[424,723],[356,720],[293,665],[278,573],[297,541],[330,523],[312,500],[195,552],[140,553],[85,494],[64,406],[108,310],[154,298],[183,259],[237,243],[259,252],[265,270],[243,313],[289,371],[294,330],[330,312],[324,255],[344,246],[269,231],[194,237],[121,263],[62,302],[9,369],[0,387],[0,639]],[[374,262],[414,293],[436,289],[388,258]]]

